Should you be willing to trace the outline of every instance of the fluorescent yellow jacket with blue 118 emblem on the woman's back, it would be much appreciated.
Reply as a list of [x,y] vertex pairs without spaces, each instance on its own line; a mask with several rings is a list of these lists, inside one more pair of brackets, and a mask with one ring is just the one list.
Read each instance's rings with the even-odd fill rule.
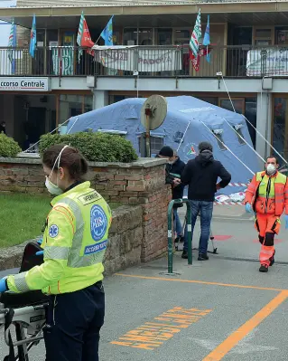
[[9,290],[60,294],[103,280],[102,264],[112,222],[107,202],[89,182],[55,197],[46,220],[44,262],[7,278]]

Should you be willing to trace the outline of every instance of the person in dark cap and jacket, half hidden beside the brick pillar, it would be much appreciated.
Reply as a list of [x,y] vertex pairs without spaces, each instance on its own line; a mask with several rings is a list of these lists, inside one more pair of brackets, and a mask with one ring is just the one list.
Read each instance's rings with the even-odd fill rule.
[[[172,186],[172,199],[181,199],[183,197],[184,185],[181,184],[181,174],[185,167],[185,163],[178,157],[177,152],[172,147],[163,147],[158,157],[167,158],[169,163],[165,167],[166,179],[165,183]],[[173,229],[176,232],[175,242],[183,240],[181,220],[177,213],[180,205],[175,204],[173,208]]]

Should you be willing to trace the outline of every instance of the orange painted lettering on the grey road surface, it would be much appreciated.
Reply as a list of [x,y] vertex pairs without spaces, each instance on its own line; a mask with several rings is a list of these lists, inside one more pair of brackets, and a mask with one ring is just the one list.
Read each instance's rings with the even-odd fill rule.
[[163,312],[159,317],[153,318],[153,322],[145,322],[144,325],[128,331],[124,336],[112,341],[111,344],[153,350],[181,332],[182,328],[188,328],[200,318],[208,315],[211,310],[174,307]]

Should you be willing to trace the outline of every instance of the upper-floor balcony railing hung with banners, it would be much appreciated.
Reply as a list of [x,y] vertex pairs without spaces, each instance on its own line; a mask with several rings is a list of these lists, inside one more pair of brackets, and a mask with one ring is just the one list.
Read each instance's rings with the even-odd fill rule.
[[[209,51],[209,59],[206,52]],[[283,46],[200,47],[198,69],[188,46],[137,46],[89,51],[79,47],[0,48],[0,76],[199,77],[221,71],[234,78],[288,76],[288,48]]]

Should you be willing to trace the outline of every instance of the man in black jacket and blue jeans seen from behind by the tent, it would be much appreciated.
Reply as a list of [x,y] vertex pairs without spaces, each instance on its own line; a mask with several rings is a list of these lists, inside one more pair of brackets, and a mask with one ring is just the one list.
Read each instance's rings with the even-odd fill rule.
[[[188,199],[191,204],[192,234],[197,216],[200,214],[201,235],[198,260],[207,261],[209,260],[207,248],[215,193],[229,184],[231,175],[218,160],[214,160],[213,147],[209,142],[201,142],[199,152],[199,156],[191,159],[185,166],[181,183],[189,185]],[[218,177],[221,178],[219,183],[217,183]],[[187,237],[184,239],[182,258],[188,258]]]

